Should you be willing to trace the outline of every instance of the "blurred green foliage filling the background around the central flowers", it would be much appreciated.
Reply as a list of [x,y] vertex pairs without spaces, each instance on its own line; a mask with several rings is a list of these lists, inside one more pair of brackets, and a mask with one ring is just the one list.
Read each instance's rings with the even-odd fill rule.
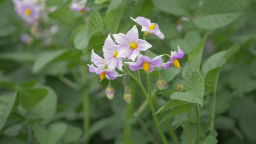
[[[22,22],[12,1],[0,0],[0,144],[118,144],[125,140],[161,143],[149,107],[138,112],[145,98],[134,82],[128,81],[134,95],[134,103],[129,106],[123,100],[122,78],[112,82],[116,92],[110,101],[104,92],[108,80],[99,82],[95,74],[80,73],[81,68],[88,71],[91,49],[103,55],[101,48],[107,34],[127,33],[135,24],[130,16],[144,16],[158,23],[165,39],[153,35],[147,38],[153,46],[152,55],[170,53],[179,45],[186,54],[181,59],[183,67],[187,54],[207,29],[200,72],[204,79],[219,74],[219,80],[212,78],[209,87],[204,82],[201,136],[213,133],[220,144],[256,143],[255,0],[89,0],[86,6],[91,11],[84,13],[72,12],[70,4],[71,0],[46,1],[47,8],[56,10],[36,31],[47,33],[52,25],[58,31],[37,39],[34,27]],[[23,43],[23,33],[29,34],[33,42]],[[229,48],[235,52],[226,56],[224,50]],[[169,101],[173,93],[170,90],[177,91],[177,84],[183,83],[183,70],[161,71],[168,83],[164,92],[156,87],[158,73],[153,72],[156,110]],[[145,76],[141,79],[146,81]],[[216,131],[208,131],[214,88]],[[89,95],[90,126],[86,132],[83,91]],[[179,114],[181,118],[186,115]],[[158,116],[162,119],[164,115]],[[181,123],[175,117],[167,122],[175,128],[181,143],[187,144]],[[194,120],[182,124],[188,125],[194,139]],[[125,125],[130,129],[124,130]],[[172,143],[168,127],[161,126]],[[131,135],[127,137],[125,131]]]

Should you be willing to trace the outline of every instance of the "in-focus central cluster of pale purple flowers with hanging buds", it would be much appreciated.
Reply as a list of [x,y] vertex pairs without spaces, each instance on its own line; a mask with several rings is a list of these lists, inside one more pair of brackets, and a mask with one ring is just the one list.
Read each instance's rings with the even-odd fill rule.
[[[164,39],[164,34],[159,30],[158,24],[151,23],[149,19],[144,17],[131,19],[142,26],[141,31],[144,31],[144,37],[155,34],[160,39]],[[171,55],[169,55],[170,61],[167,61],[166,63],[162,63],[162,56],[164,55],[156,56],[153,59],[149,56],[142,55],[142,52],[151,48],[152,45],[150,45],[146,40],[139,39],[136,25],[134,25],[127,34],[113,34],[113,38],[115,41],[109,34],[105,40],[103,46],[104,58],[101,58],[94,52],[94,49],[92,49],[91,62],[93,64],[88,64],[89,71],[100,75],[100,81],[105,77],[109,80],[114,80],[116,77],[122,76],[122,74],[119,74],[115,69],[117,68],[118,70],[123,71],[123,59],[132,61],[124,62],[124,64],[128,64],[131,71],[143,69],[146,73],[151,73],[155,67],[163,66],[164,69],[168,69],[171,65],[180,68],[178,59],[184,56],[184,52],[179,48],[179,46],[178,52],[171,52]],[[137,61],[135,61],[136,58]],[[159,88],[162,89],[164,86],[164,80],[161,82],[159,81]],[[130,91],[128,93],[130,95]],[[127,96],[128,93],[125,93],[126,95],[124,96],[124,99],[129,103],[131,96]],[[108,86],[106,94],[109,99],[113,98],[114,90],[111,85]]]

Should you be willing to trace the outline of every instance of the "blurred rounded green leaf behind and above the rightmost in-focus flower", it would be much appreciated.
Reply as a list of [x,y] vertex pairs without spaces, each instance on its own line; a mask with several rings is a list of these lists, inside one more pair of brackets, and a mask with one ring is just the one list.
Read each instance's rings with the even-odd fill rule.
[[201,40],[200,34],[195,31],[189,31],[184,39],[172,39],[170,42],[170,46],[173,50],[177,51],[177,46],[180,46],[182,48],[183,52],[185,54],[191,52],[191,50],[195,47],[195,45]]

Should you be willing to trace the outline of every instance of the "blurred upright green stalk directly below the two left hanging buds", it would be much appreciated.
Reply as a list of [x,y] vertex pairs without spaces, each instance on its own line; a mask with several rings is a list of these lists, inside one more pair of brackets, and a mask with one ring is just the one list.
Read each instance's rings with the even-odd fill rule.
[[[135,92],[135,83],[131,81],[130,83],[131,89]],[[131,99],[131,103],[127,104],[127,111],[125,116],[125,126],[124,126],[124,141],[129,141],[131,138],[132,125],[128,124],[128,120],[132,117],[134,108],[134,97]]]

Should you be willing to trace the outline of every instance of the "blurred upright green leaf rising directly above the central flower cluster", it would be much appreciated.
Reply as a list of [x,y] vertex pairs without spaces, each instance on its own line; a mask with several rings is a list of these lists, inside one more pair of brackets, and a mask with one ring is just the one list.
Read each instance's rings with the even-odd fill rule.
[[[110,3],[110,6],[112,3],[121,3],[122,0],[114,0]],[[115,34],[118,32],[119,24],[125,9],[126,0],[124,0],[116,9],[112,9],[109,12],[107,11],[106,16],[104,18],[104,24],[107,28],[109,28],[109,31],[111,34]],[[108,9],[109,10],[109,9]]]

